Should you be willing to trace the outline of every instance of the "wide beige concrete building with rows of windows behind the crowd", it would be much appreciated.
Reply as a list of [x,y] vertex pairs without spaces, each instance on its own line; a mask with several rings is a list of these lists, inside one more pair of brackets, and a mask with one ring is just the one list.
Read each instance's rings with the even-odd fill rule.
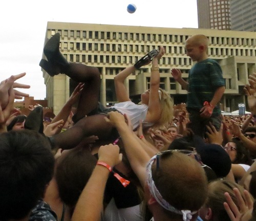
[[[194,34],[205,34],[209,38],[209,57],[217,60],[223,69],[226,81],[221,101],[223,111],[234,111],[238,103],[246,103],[242,89],[248,83],[248,75],[256,72],[256,35],[252,32],[48,22],[45,43],[57,32],[61,35],[60,51],[68,61],[99,68],[102,73],[100,101],[104,105],[117,102],[114,76],[159,46],[164,46],[166,51],[159,65],[161,87],[169,92],[175,104],[185,102],[187,92],[175,82],[170,68],[178,68],[184,79],[188,77],[193,62],[185,54],[184,42]],[[140,94],[150,85],[150,68],[151,65],[147,65],[135,71],[125,82],[134,102],[140,100]],[[68,100],[73,85],[63,74],[50,77],[42,70],[42,76],[48,106],[57,114]]]

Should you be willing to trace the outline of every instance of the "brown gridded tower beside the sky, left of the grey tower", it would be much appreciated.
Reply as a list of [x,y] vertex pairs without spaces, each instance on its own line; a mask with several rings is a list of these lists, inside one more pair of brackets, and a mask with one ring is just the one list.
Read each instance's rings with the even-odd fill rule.
[[198,28],[231,30],[229,0],[197,0],[197,11]]

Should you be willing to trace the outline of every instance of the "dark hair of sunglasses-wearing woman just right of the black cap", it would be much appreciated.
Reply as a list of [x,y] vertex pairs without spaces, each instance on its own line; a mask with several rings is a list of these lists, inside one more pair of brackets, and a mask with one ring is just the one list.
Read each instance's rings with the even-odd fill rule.
[[249,150],[243,145],[243,143],[241,141],[232,139],[231,142],[236,144],[236,149],[237,149],[236,159],[234,159],[234,161],[232,163],[233,164],[247,164],[250,166],[252,164],[252,159],[250,157]]

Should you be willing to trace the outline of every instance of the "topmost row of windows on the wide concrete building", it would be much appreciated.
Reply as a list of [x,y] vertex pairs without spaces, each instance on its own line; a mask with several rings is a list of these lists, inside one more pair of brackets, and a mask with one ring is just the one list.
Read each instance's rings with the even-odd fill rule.
[[[116,39],[116,40],[143,40],[143,41],[164,41],[168,42],[185,42],[189,35],[167,35],[167,34],[144,34],[144,33],[124,33],[124,32],[101,32],[101,31],[74,31],[74,30],[58,30],[62,37],[77,37],[89,39]],[[52,30],[52,35],[55,30]],[[118,37],[117,37],[118,36]],[[209,36],[209,43],[219,45],[246,45],[256,46],[256,39],[254,38],[233,38],[233,37],[211,37]]]

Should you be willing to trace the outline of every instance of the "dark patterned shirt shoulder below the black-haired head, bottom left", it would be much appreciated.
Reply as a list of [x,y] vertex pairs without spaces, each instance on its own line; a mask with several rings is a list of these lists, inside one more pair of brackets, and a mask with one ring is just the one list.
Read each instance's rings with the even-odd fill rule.
[[38,201],[33,208],[29,221],[57,221],[56,213],[51,209],[50,205],[44,201]]

